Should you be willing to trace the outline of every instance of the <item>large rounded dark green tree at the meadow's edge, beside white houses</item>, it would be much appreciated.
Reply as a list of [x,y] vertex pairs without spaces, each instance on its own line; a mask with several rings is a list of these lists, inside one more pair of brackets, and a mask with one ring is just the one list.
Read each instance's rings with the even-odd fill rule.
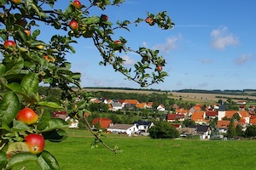
[[152,139],[173,139],[179,137],[177,129],[169,122],[155,122],[148,133]]

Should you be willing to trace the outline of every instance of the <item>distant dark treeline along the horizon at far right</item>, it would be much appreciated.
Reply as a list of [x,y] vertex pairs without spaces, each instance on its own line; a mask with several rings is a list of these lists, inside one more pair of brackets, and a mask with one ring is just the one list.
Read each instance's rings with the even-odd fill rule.
[[195,94],[229,94],[229,95],[256,96],[256,89],[243,89],[243,90],[182,89],[182,90],[173,90],[172,92],[195,93]]

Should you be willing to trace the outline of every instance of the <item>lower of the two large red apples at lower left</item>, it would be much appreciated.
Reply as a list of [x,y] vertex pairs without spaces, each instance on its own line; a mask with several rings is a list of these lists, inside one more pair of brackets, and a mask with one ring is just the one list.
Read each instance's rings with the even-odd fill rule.
[[28,134],[24,142],[32,154],[39,154],[44,150],[44,137],[40,134]]

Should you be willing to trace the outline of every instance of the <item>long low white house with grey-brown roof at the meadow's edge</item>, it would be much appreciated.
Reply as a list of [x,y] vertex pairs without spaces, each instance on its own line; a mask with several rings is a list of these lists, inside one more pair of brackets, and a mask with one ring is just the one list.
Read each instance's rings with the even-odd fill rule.
[[108,133],[125,133],[128,136],[132,136],[138,133],[138,128],[135,124],[114,124],[107,128]]

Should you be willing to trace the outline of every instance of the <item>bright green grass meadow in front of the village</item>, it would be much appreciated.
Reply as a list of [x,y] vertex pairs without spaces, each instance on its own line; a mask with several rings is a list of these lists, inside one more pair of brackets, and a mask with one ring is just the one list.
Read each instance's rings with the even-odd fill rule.
[[[61,170],[256,169],[256,140],[149,139],[107,134],[102,139],[122,150],[113,154],[102,144],[91,149],[93,136],[88,132],[68,133],[68,139],[58,144],[47,142],[45,147],[59,161]],[[37,169],[35,166],[28,163],[26,169]]]

